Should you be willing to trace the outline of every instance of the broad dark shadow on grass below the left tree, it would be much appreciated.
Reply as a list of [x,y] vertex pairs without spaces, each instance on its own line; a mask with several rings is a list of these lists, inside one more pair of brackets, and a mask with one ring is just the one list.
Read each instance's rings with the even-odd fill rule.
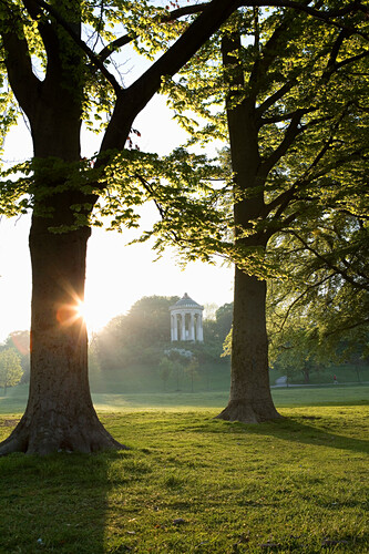
[[130,452],[0,458],[0,553],[127,552],[122,533],[106,544],[110,492],[131,480],[121,469],[112,480],[123,458]]

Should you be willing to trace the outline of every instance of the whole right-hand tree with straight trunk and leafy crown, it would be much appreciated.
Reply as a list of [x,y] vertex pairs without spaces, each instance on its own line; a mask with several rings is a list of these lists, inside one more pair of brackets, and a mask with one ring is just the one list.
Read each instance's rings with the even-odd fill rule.
[[[229,134],[234,242],[206,220],[203,242],[199,225],[196,243],[177,233],[184,249],[219,252],[236,265],[230,398],[223,419],[278,417],[267,370],[266,278],[285,275],[271,237],[278,242],[281,233],[304,229],[312,215],[342,211],[367,183],[368,8],[312,4],[299,12],[237,12],[181,78],[166,83],[192,142]],[[224,104],[226,120],[217,110]],[[201,129],[198,120],[182,115],[184,107],[208,124]],[[223,220],[225,230],[229,220]]]

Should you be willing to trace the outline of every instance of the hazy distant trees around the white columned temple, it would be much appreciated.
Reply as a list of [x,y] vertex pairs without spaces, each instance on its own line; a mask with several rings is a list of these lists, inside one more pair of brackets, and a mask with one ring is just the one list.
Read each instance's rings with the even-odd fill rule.
[[[321,343],[306,324],[311,317],[304,318],[293,311],[288,314],[288,324],[278,326],[284,312],[276,314],[275,296],[269,294],[267,311],[270,369],[289,381],[309,383],[312,375],[329,367],[350,365],[356,380],[361,380],[360,371],[369,366],[363,340],[366,329],[360,330],[361,340],[356,330],[355,337],[347,331],[331,345]],[[164,391],[183,390],[184,384],[186,390],[194,391],[199,381],[209,390],[212,373],[217,368],[226,369],[228,376],[233,302],[211,307],[211,318],[204,319],[203,343],[171,342],[170,307],[178,299],[177,296],[143,297],[127,314],[114,317],[103,330],[94,334],[90,340],[90,375],[99,372],[102,379],[109,379],[110,373],[121,372],[124,382],[131,375],[127,370],[132,369],[134,375],[141,368],[144,375],[155,375]],[[316,321],[318,325],[318,319]],[[0,345],[0,388],[4,393],[9,387],[29,382],[29,331],[13,331]]]

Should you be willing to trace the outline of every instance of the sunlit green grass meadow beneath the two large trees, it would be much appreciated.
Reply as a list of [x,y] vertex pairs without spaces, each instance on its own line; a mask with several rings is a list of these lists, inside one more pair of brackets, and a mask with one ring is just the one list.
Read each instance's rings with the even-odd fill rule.
[[0,553],[368,552],[368,390],[275,389],[258,425],[214,419],[226,393],[95,394],[127,449],[0,459]]

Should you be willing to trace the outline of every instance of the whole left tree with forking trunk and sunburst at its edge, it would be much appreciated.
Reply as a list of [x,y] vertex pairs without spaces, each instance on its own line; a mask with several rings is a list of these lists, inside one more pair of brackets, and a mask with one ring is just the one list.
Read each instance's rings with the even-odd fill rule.
[[[2,211],[11,215],[30,205],[33,209],[29,240],[33,289],[29,401],[21,421],[0,445],[0,454],[121,447],[92,406],[86,332],[78,311],[92,209],[114,182],[115,170],[107,168],[124,150],[134,119],[160,90],[163,76],[175,74],[238,4],[213,0],[192,24],[167,25],[155,34],[167,11],[150,10],[144,1],[110,0],[99,7],[70,0],[1,2],[3,79],[11,89],[4,90],[8,109],[1,123],[9,127],[14,106],[25,114],[34,158],[31,167],[23,167],[23,179],[8,181],[1,189]],[[123,37],[114,35],[112,27]],[[180,38],[124,89],[106,62],[133,37],[140,49],[140,35],[148,40],[147,27],[156,40],[161,33],[161,40]],[[101,42],[104,48],[99,52]],[[91,168],[81,161],[81,124],[91,113],[99,117],[104,107],[110,117]],[[126,188],[126,206],[132,195]],[[126,220],[131,215],[126,207]]]

